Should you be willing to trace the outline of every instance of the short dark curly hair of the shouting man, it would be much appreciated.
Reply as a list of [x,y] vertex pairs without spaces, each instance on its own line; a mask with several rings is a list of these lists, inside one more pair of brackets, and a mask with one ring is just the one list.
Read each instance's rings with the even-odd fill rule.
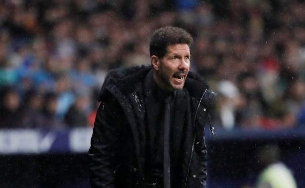
[[167,47],[174,44],[188,44],[193,42],[193,37],[186,30],[179,27],[166,26],[155,30],[149,42],[150,56],[156,55],[163,58],[167,53]]

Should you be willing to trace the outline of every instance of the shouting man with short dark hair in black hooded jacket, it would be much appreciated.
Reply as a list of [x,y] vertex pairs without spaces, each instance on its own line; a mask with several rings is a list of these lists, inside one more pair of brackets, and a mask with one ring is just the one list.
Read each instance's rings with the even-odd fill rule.
[[214,93],[189,73],[189,33],[155,30],[151,67],[110,71],[89,150],[91,187],[206,187],[203,134]]

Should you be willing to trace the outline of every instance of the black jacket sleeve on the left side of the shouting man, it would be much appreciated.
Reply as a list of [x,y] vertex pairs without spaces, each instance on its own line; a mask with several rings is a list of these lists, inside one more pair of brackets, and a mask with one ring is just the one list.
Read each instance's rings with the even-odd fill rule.
[[89,174],[91,188],[114,188],[114,171],[117,167],[119,122],[114,99],[101,102],[91,137],[89,149]]

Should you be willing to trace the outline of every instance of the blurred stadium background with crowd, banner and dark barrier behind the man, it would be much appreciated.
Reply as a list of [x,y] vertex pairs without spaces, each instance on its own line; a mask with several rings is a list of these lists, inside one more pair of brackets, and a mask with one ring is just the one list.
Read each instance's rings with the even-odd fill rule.
[[209,187],[254,187],[278,144],[305,185],[303,0],[0,1],[0,185],[89,187],[97,95],[109,69],[149,65],[152,30],[194,37],[191,70],[217,101]]

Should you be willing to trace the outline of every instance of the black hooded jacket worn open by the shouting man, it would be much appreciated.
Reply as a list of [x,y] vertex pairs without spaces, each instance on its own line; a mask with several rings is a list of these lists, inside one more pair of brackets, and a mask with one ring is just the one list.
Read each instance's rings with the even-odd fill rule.
[[[143,180],[144,154],[138,131],[145,116],[140,97],[142,81],[151,70],[138,66],[110,71],[99,94],[99,106],[89,149],[92,188],[136,188]],[[190,125],[181,129],[183,156],[174,187],[206,187],[206,145],[204,123],[215,94],[202,78],[189,72],[183,102],[187,105]],[[174,141],[173,141],[174,142]],[[171,143],[175,144],[175,143]],[[144,145],[144,146],[143,146]]]

